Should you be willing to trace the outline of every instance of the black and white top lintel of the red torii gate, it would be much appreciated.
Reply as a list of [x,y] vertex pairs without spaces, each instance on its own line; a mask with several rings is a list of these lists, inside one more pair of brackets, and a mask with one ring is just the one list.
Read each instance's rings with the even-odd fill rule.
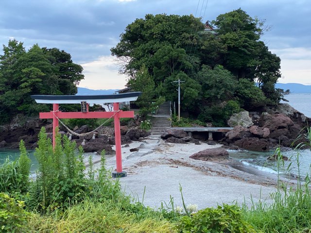
[[48,96],[48,95],[33,95],[31,96],[37,103],[87,103],[103,104],[135,101],[141,95],[141,92],[129,92],[115,95],[96,95],[96,96]]

